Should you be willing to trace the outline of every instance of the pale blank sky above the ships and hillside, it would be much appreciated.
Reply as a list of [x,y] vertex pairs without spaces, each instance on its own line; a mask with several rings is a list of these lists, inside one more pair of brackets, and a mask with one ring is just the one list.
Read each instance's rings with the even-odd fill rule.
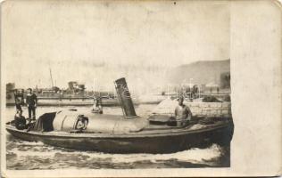
[[224,1],[9,1],[2,26],[4,78],[17,87],[51,86],[50,69],[64,88],[163,85],[176,66],[229,59]]

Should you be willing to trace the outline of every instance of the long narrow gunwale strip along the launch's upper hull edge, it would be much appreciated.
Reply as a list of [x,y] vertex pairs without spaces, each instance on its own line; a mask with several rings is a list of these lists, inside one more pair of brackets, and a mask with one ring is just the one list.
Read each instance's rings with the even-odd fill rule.
[[66,132],[36,132],[36,131],[29,131],[26,130],[18,130],[11,125],[6,125],[6,130],[9,132],[18,132],[21,134],[31,134],[37,136],[53,136],[53,137],[63,137],[63,138],[140,138],[140,137],[167,137],[167,136],[178,136],[178,135],[185,135],[185,134],[197,134],[201,132],[210,132],[212,130],[217,130],[220,128],[224,128],[230,125],[229,122],[225,122],[221,125],[213,125],[205,128],[195,129],[195,130],[188,130],[187,128],[178,128],[175,130],[171,130],[168,133],[153,133],[153,132],[138,132],[138,133],[129,133],[129,134],[89,134],[89,133],[81,133],[81,134],[73,134],[73,133],[66,133]]

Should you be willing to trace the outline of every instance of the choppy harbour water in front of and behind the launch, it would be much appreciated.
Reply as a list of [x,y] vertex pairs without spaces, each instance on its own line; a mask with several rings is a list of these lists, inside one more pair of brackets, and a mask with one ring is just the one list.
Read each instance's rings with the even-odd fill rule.
[[[148,115],[154,105],[137,106],[137,114]],[[49,111],[73,107],[39,107],[37,116]],[[77,108],[90,112],[91,107]],[[12,120],[14,108],[6,109],[6,122]],[[119,107],[104,108],[104,113],[122,114]],[[28,115],[24,109],[23,115]],[[229,166],[229,148],[212,144],[206,149],[191,149],[171,154],[109,154],[56,148],[42,142],[25,142],[6,134],[7,169],[131,169]]]

